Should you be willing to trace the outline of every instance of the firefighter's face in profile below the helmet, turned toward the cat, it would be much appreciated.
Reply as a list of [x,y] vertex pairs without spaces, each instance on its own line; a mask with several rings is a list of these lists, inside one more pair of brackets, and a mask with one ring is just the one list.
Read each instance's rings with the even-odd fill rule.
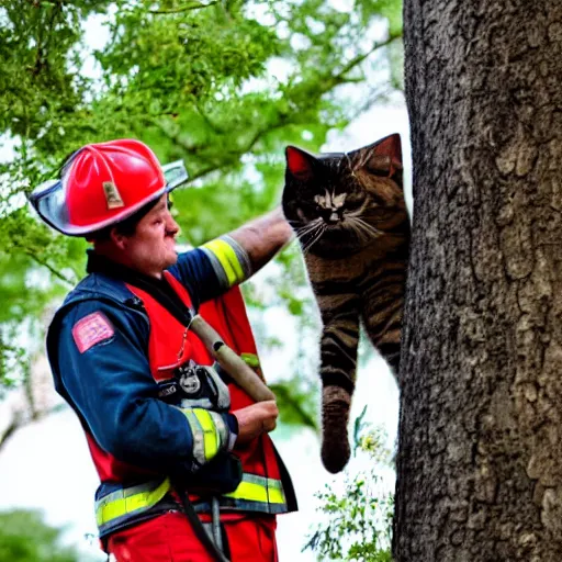
[[158,203],[136,225],[135,234],[127,236],[125,252],[127,261],[138,271],[160,277],[161,272],[178,260],[176,235],[178,223],[168,207],[168,198],[162,195]]

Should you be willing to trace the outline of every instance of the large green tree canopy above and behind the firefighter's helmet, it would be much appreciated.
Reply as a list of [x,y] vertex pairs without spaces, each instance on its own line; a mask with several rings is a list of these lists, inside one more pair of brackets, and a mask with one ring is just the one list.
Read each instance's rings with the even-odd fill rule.
[[[400,0],[358,0],[347,12],[322,0],[4,0],[0,385],[25,361],[13,331],[35,329],[45,304],[83,274],[85,243],[38,223],[25,193],[77,147],[136,137],[162,161],[186,161],[180,241],[239,226],[278,204],[286,144],[318,150],[364,109],[340,87],[359,85],[375,100],[366,65],[389,66],[397,11]],[[386,32],[374,34],[381,22]],[[283,263],[288,274],[299,267]],[[293,286],[305,283],[294,274]],[[303,315],[286,286],[283,276],[281,299]]]

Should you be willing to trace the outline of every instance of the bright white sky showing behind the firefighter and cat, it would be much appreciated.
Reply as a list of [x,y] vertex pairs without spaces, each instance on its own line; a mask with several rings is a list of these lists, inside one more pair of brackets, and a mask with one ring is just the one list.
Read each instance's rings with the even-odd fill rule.
[[[92,29],[91,42],[98,43],[99,27]],[[89,69],[94,72],[94,68]],[[405,159],[406,186],[411,186],[411,157],[407,114],[401,100],[393,106],[375,106],[353,122],[345,132],[334,132],[323,147],[325,151],[348,151],[368,145],[391,133],[401,133]],[[3,154],[2,154],[3,153]],[[0,158],[7,147],[0,145]],[[408,207],[412,210],[412,191],[407,189]],[[267,277],[266,268],[260,276]],[[296,334],[288,324],[283,311],[265,312],[268,326],[278,326],[277,336],[286,344],[284,351],[263,356],[262,363],[269,380],[276,379],[279,366],[284,364],[285,353],[296,348]],[[382,426],[389,434],[390,445],[396,437],[398,414],[397,390],[389,369],[374,359],[358,373],[352,418],[368,404],[367,419]],[[2,405],[7,413],[8,404]],[[2,416],[0,415],[0,424]],[[319,443],[312,431],[297,430],[289,435],[278,429],[272,438],[293,477],[300,512],[279,517],[278,543],[281,561],[313,561],[310,552],[302,553],[306,535],[318,514],[313,495],[325,483],[342,484],[342,476],[328,474],[319,461]],[[98,476],[90,460],[86,439],[72,412],[65,409],[41,423],[19,430],[0,453],[0,510],[15,507],[40,508],[49,524],[64,526],[66,539],[78,543],[85,552],[98,555],[97,541],[90,544],[87,535],[97,535],[93,517],[93,494]],[[384,477],[386,490],[393,488],[393,474]]]

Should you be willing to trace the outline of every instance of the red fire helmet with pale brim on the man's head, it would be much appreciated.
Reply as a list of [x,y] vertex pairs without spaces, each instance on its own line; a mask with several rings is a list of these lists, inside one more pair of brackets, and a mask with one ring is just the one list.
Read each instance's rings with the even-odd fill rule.
[[188,179],[181,160],[160,166],[131,138],[86,145],[64,164],[60,178],[30,195],[40,216],[69,236],[116,224]]

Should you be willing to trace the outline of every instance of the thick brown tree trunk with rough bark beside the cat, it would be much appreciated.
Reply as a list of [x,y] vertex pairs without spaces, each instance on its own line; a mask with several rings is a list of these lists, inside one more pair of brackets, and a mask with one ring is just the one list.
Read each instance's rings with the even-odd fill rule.
[[396,562],[562,560],[562,2],[405,0]]

